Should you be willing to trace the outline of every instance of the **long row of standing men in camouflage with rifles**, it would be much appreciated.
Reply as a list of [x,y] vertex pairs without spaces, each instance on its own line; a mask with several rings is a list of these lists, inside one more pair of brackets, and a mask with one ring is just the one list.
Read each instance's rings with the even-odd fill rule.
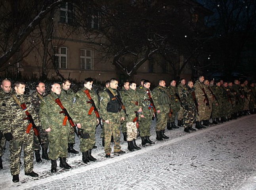
[[[103,126],[101,137],[105,157],[110,158],[112,136],[114,154],[125,154],[120,146],[120,125],[128,150],[134,151],[140,149],[136,144],[138,133],[142,146],[155,143],[149,138],[152,120],[156,120],[156,139],[162,141],[169,139],[164,134],[166,126],[171,130],[183,125],[184,131],[189,133],[196,130],[192,127],[194,120],[195,127],[202,129],[209,125],[210,116],[216,124],[219,121],[225,122],[225,119],[236,118],[242,112],[248,113],[247,109],[253,113],[256,108],[255,87],[251,85],[250,89],[246,89],[246,85],[240,85],[237,89],[236,85],[239,84],[236,83],[237,80],[233,87],[232,83],[223,83],[220,87],[221,82],[214,86],[200,76],[195,85],[193,81],[186,84],[185,79],[181,79],[178,87],[175,80],[170,81],[169,87],[166,87],[164,80],[159,80],[159,85],[151,91],[151,83],[141,80],[138,88],[131,81],[125,82],[123,90],[119,91],[118,80],[112,78],[106,88],[97,94],[92,90],[92,78],[86,78],[84,87],[77,93],[71,90],[71,81],[66,79],[62,87],[54,83],[49,95],[45,94],[44,83],[38,82],[36,91],[30,96],[24,94],[25,83],[15,82],[15,91],[12,92],[11,82],[3,80],[0,93],[0,169],[6,140],[10,141],[11,175],[13,182],[18,182],[22,147],[25,175],[31,177],[38,176],[33,172],[33,150],[36,161],[41,162],[40,146],[42,158],[51,160],[52,173],[57,172],[57,159],[60,160],[59,167],[70,169],[66,160],[67,153],[78,153],[73,147],[75,134],[80,138],[82,161],[96,161],[92,156],[92,149],[96,142],[96,126],[100,122]],[[175,125],[176,116],[178,126]],[[37,136],[28,127],[33,123],[36,126],[33,127],[34,131],[39,131]]]

